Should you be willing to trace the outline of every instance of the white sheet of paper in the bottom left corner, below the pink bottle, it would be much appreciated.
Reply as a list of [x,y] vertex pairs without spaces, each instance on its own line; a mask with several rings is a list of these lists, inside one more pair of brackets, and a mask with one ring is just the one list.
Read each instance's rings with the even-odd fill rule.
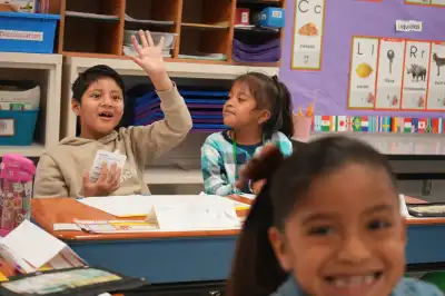
[[43,266],[67,247],[65,243],[28,220],[3,237],[1,244],[36,268]]

